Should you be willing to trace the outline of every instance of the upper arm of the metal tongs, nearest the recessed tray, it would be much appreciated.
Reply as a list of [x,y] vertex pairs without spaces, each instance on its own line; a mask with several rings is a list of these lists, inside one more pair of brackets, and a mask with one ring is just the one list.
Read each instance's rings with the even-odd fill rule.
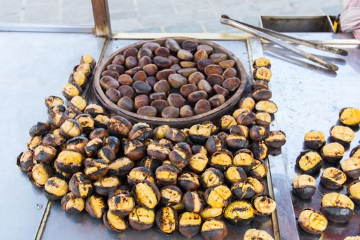
[[[234,20],[236,21],[236,20]],[[288,35],[285,35],[285,34],[280,34],[280,32],[276,32],[274,30],[271,30],[271,29],[266,29],[266,28],[262,28],[262,27],[256,27],[254,25],[250,25],[248,23],[243,23],[241,21],[236,21],[237,23],[241,23],[247,27],[252,27],[260,32],[265,32],[265,34],[269,34],[269,35],[272,35],[276,38],[280,38],[282,40],[287,40],[288,43],[292,43],[292,44],[296,44],[296,45],[304,45],[306,47],[312,47],[312,48],[315,48],[315,49],[319,49],[319,50],[322,50],[322,51],[328,51],[328,52],[331,52],[331,53],[335,53],[335,54],[339,54],[339,55],[342,55],[342,56],[348,56],[348,52],[345,51],[344,49],[339,49],[337,47],[331,47],[331,46],[328,46],[328,45],[323,45],[322,43],[315,43],[315,42],[311,42],[309,40],[304,40],[304,39],[300,39],[300,38],[295,38],[293,36],[288,36]]]

